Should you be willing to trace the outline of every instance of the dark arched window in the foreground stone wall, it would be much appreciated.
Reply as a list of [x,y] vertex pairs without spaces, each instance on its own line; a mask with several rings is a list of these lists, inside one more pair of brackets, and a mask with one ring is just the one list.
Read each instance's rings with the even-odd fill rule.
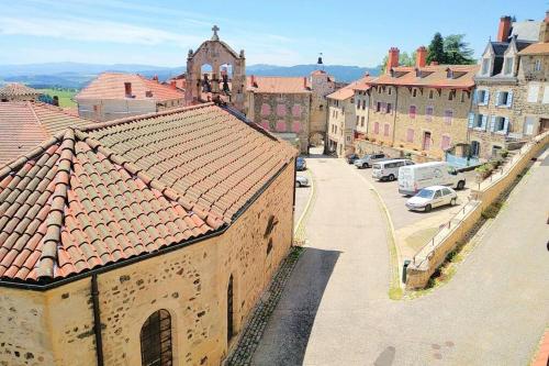
[[171,317],[167,310],[152,313],[139,337],[143,366],[171,366]]

